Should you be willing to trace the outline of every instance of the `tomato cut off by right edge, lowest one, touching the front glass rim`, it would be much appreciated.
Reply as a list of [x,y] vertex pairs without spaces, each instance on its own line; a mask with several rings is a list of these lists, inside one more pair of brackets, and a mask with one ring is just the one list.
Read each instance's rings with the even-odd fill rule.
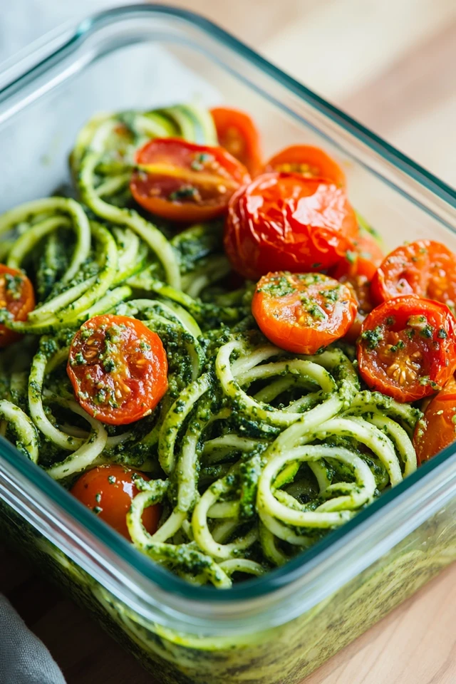
[[427,405],[425,415],[415,427],[413,445],[418,464],[427,461],[456,440],[456,380],[448,380]]

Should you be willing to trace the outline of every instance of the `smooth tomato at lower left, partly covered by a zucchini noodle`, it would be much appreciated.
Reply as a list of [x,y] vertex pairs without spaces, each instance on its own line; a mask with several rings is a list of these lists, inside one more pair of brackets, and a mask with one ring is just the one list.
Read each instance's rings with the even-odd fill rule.
[[[130,541],[127,513],[133,497],[139,492],[135,477],[142,477],[147,482],[150,479],[142,472],[130,470],[123,465],[100,465],[81,475],[70,491],[76,499]],[[160,514],[159,504],[147,507],[142,514],[142,524],[149,534],[157,532]]]

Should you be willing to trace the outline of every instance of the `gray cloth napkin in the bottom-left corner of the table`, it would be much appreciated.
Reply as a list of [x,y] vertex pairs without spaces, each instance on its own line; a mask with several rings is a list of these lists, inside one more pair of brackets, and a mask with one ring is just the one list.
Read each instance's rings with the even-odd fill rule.
[[0,684],[65,684],[46,646],[1,595]]

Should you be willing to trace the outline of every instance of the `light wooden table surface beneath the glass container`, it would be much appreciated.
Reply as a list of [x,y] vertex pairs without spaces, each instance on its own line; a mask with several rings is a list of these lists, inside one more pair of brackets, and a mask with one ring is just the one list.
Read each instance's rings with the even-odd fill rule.
[[[169,4],[206,14],[456,186],[455,0]],[[1,547],[0,591],[68,684],[154,684],[79,608]],[[452,566],[306,684],[454,684],[455,623]]]

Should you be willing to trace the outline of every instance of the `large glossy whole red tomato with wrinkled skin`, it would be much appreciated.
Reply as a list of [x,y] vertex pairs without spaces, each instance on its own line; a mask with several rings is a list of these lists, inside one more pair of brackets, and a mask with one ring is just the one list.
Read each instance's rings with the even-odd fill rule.
[[296,173],[266,173],[229,202],[224,248],[234,270],[258,280],[269,271],[323,271],[358,234],[355,212],[336,185]]

